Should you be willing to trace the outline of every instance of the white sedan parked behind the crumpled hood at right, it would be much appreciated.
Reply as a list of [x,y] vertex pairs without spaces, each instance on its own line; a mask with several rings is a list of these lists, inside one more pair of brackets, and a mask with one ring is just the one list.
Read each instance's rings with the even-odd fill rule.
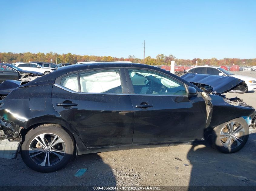
[[256,89],[256,78],[232,74],[231,72],[216,66],[196,66],[186,70],[186,72],[208,75],[232,76],[234,78],[245,81],[247,85],[247,91],[252,91]]

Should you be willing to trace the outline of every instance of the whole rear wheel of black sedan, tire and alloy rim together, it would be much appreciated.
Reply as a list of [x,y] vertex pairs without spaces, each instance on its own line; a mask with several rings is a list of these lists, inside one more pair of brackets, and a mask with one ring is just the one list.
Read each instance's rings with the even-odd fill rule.
[[45,124],[31,129],[25,135],[21,146],[21,157],[25,164],[32,170],[44,173],[65,167],[73,153],[72,138],[56,124]]

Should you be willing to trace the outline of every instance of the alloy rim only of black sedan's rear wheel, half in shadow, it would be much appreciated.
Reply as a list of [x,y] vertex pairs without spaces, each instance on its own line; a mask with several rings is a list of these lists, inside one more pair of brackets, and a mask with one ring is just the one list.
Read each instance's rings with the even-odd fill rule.
[[58,135],[42,133],[32,140],[28,153],[36,164],[53,166],[64,158],[66,146],[63,139]]

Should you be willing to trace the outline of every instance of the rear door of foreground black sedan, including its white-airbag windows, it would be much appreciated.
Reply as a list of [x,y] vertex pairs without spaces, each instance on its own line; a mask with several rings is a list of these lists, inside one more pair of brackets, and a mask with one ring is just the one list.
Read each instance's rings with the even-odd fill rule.
[[52,103],[87,147],[132,143],[134,111],[122,68],[62,76],[53,86]]

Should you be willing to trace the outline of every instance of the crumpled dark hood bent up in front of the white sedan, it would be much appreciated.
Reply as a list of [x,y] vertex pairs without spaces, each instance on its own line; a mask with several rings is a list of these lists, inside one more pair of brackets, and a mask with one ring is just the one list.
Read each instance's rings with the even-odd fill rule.
[[187,73],[181,76],[184,80],[190,83],[205,84],[211,86],[214,94],[223,94],[226,92],[244,93],[246,91],[246,84],[239,78],[232,76],[217,76]]

